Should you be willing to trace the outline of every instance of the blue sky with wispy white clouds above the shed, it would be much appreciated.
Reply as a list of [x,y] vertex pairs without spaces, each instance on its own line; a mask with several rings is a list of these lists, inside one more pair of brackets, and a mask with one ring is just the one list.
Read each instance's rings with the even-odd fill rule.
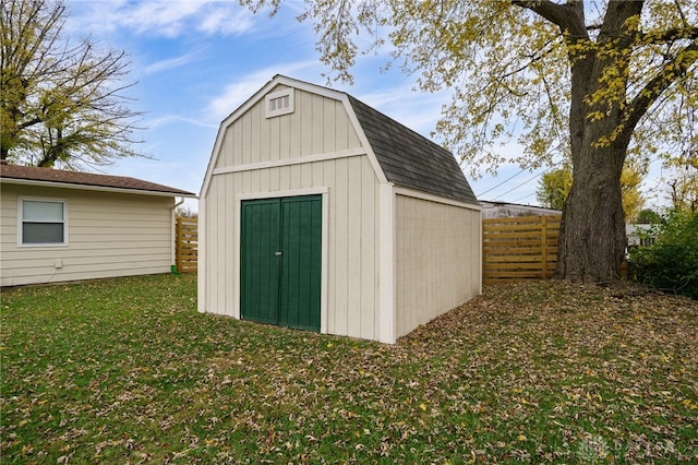
[[[275,74],[327,84],[312,24],[299,23],[300,0],[280,13],[253,15],[234,0],[68,0],[65,32],[89,35],[103,47],[129,53],[132,108],[144,112],[137,148],[154,159],[129,158],[104,172],[131,176],[198,194],[220,121]],[[387,53],[383,51],[383,53]],[[413,91],[414,79],[382,71],[387,55],[360,57],[354,84],[334,83],[365,104],[430,136],[448,100],[447,92]],[[436,139],[437,141],[437,139]],[[516,155],[515,145],[504,147]],[[544,169],[544,168],[543,168]],[[521,172],[504,166],[497,177],[473,180],[480,200],[537,204],[543,169]],[[510,179],[509,179],[510,178]],[[196,210],[195,201],[186,206]]]

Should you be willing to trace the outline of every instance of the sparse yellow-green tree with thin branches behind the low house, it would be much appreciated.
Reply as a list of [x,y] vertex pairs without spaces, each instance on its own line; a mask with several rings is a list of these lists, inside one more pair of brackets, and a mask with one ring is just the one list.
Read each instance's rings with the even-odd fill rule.
[[61,0],[2,0],[0,156],[67,168],[139,155],[139,112],[127,105],[127,55],[62,36]]

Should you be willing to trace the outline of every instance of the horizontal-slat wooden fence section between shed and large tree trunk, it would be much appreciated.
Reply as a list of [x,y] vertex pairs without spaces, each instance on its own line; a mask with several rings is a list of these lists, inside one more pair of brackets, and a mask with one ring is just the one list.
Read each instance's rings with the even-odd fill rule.
[[561,218],[562,215],[483,219],[483,282],[552,277]]

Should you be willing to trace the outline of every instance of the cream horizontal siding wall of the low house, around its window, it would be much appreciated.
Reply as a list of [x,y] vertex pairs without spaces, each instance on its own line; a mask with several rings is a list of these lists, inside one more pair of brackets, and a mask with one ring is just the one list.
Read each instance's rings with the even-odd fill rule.
[[[2,286],[170,271],[173,198],[8,183],[1,191]],[[17,246],[20,196],[68,201],[68,246]]]

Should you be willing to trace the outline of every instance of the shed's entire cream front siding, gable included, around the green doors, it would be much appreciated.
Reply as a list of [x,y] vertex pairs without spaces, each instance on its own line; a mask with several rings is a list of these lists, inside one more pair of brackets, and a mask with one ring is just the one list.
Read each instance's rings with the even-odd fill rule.
[[[277,86],[270,92],[276,92]],[[205,269],[200,310],[239,318],[239,207],[236,199],[325,190],[323,331],[378,337],[378,182],[340,100],[294,90],[294,111],[265,118],[262,99],[221,128],[213,176],[202,192]],[[318,159],[317,156],[320,155]],[[315,158],[310,158],[313,157]],[[265,166],[272,164],[274,166]],[[237,310],[236,310],[237,309]]]

